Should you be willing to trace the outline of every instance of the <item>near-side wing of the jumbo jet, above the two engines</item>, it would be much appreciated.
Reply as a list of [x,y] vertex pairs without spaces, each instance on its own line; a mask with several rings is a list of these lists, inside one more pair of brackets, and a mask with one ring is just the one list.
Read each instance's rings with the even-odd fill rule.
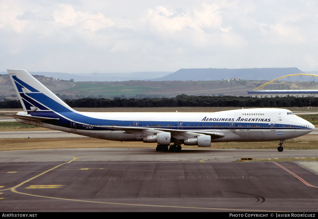
[[[126,131],[127,133],[133,133],[133,134],[137,134],[140,132],[143,133],[148,133],[148,132],[170,132],[171,134],[176,134],[176,133],[193,133],[193,134],[203,134],[203,135],[210,135],[211,138],[222,138],[225,136],[225,134],[222,131],[218,131],[218,130],[209,130],[209,131],[195,131],[195,130],[179,130],[179,129],[162,129],[162,128],[149,128],[149,127],[122,127],[122,126],[111,126],[111,125],[103,125],[100,127],[104,127],[104,128],[109,128],[109,129],[117,129],[117,130],[123,130]],[[138,136],[138,135],[137,135]]]

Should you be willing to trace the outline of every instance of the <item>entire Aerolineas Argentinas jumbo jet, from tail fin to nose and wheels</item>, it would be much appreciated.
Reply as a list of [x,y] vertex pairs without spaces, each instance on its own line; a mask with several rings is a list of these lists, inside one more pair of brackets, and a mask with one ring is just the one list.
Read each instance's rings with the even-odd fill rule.
[[285,109],[242,109],[206,113],[78,112],[25,70],[8,70],[24,112],[10,115],[20,123],[113,141],[157,143],[157,151],[181,145],[210,147],[213,142],[280,141],[315,129]]

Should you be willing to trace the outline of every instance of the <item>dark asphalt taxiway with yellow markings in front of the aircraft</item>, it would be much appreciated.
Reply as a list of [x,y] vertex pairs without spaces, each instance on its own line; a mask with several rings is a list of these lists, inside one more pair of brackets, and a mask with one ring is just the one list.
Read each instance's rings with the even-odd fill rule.
[[[0,152],[0,211],[315,212],[318,150]],[[269,162],[232,162],[241,157]],[[275,162],[277,158],[296,162]],[[303,181],[301,181],[303,180]],[[306,182],[306,183],[305,183]]]

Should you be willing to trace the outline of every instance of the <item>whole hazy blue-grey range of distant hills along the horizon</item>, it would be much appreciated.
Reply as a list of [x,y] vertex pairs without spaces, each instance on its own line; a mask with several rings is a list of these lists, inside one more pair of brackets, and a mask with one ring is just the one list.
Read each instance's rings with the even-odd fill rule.
[[[176,72],[133,72],[133,73],[90,73],[69,74],[60,72],[29,72],[55,79],[74,81],[221,81],[228,78],[242,80],[270,81],[288,74],[304,73],[296,67],[292,68],[181,68]],[[317,74],[311,72],[308,74]],[[7,74],[0,72],[0,74]],[[294,78],[291,78],[294,79]],[[295,79],[297,80],[297,78]]]

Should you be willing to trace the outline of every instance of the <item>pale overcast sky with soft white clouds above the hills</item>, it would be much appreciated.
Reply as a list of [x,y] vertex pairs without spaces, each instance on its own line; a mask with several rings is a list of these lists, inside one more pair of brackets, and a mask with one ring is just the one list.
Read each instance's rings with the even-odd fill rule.
[[0,0],[0,71],[318,71],[315,0]]

